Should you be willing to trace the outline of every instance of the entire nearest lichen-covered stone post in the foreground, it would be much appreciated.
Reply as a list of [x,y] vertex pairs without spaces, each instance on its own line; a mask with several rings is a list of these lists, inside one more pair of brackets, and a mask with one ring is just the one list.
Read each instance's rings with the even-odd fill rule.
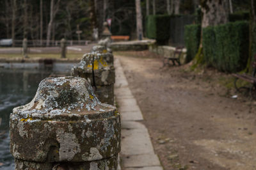
[[15,169],[117,169],[120,114],[81,77],[47,78],[10,115]]

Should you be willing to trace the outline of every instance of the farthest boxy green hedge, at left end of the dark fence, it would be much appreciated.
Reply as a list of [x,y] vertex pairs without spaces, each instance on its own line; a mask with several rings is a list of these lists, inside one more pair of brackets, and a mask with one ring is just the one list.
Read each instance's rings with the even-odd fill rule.
[[170,37],[170,15],[148,15],[146,24],[148,38],[164,43]]

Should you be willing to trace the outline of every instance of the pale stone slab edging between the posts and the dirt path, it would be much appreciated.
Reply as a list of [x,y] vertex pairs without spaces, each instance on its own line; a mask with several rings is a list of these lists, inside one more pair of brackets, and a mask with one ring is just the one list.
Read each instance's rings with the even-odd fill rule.
[[114,65],[116,72],[115,96],[122,122],[120,153],[122,170],[163,170],[158,156],[154,153],[148,130],[141,123],[143,116],[140,107],[129,89],[119,59],[115,58]]

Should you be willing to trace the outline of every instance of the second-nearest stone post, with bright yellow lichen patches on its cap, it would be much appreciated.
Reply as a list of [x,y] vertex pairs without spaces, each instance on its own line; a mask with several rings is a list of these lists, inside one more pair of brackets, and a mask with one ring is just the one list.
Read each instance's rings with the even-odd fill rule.
[[[96,49],[95,50],[99,50]],[[72,68],[72,75],[87,79],[93,87],[99,100],[114,104],[115,68],[113,54],[103,49],[99,52],[84,54],[81,62]]]

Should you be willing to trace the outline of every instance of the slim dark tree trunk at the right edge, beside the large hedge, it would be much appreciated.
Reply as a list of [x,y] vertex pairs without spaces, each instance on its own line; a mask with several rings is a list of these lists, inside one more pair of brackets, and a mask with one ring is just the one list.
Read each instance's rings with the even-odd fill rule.
[[254,56],[256,54],[256,0],[251,0],[250,9],[250,49],[249,58],[246,66],[246,72],[252,72],[252,62],[254,61]]

